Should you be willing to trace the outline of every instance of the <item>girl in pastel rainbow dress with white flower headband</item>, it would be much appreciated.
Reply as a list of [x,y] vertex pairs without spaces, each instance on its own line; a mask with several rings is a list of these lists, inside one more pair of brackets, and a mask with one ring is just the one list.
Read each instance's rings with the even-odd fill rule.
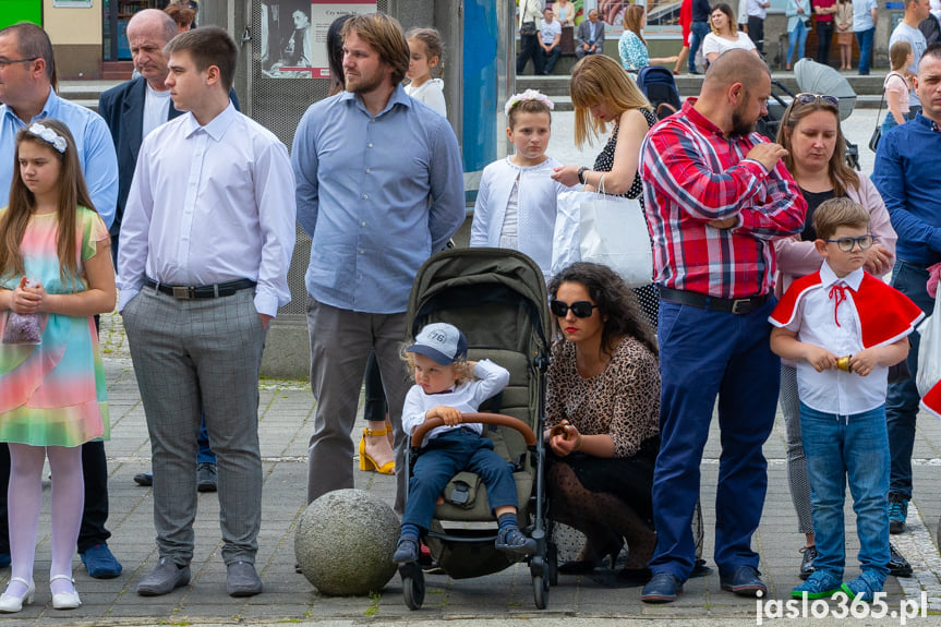
[[92,316],[112,311],[114,299],[108,229],[88,197],[72,134],[58,120],[34,122],[16,135],[10,205],[0,209],[0,442],[10,444],[13,559],[0,612],[33,601],[47,456],[52,606],[82,603],[72,580],[85,501],[81,445],[109,431]]

